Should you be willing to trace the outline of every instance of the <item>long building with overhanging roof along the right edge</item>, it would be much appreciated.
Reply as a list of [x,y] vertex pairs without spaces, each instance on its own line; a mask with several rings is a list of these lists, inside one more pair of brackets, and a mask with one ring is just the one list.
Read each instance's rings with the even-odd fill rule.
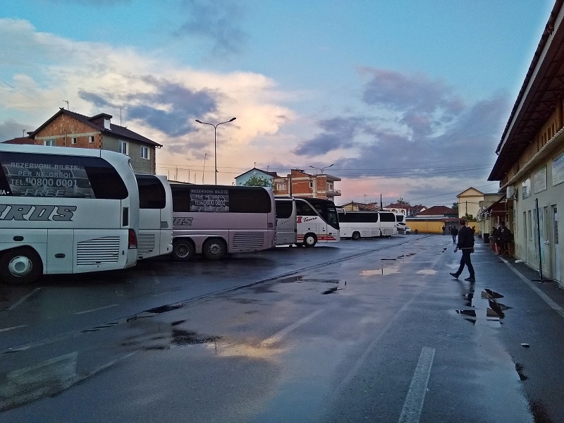
[[489,180],[500,183],[515,257],[544,278],[563,283],[564,8],[556,1],[501,137]]

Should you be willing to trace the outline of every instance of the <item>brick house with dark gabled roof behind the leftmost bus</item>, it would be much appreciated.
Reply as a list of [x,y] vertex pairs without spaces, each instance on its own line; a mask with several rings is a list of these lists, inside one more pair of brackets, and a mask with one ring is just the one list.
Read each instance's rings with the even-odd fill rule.
[[[112,116],[98,114],[88,117],[59,109],[32,133],[29,139],[36,145],[106,149],[130,157],[136,173],[155,173],[155,151],[162,145],[149,138],[111,123]],[[16,140],[19,140],[16,138]],[[11,140],[14,141],[14,140]],[[13,144],[23,142],[11,142]]]

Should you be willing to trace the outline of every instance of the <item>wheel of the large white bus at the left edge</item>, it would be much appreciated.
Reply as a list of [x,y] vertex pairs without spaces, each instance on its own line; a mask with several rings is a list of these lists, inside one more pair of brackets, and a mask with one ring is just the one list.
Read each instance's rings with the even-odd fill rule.
[[43,274],[41,257],[32,248],[7,250],[0,257],[0,278],[10,285],[27,285]]

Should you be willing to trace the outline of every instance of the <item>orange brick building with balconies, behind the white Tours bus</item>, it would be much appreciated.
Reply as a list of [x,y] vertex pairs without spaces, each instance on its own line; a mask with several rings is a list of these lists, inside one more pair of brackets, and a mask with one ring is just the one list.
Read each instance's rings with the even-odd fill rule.
[[310,175],[300,169],[292,169],[287,176],[274,178],[274,195],[322,198],[334,202],[335,197],[341,195],[341,191],[334,186],[339,180],[341,178],[326,173]]

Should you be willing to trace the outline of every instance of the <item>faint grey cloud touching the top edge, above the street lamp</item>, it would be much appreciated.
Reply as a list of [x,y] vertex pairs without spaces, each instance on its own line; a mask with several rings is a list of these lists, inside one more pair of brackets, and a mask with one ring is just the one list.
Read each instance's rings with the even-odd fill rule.
[[248,36],[238,27],[243,17],[239,4],[224,0],[183,0],[189,18],[178,36],[201,37],[212,43],[210,55],[231,56],[243,51]]

